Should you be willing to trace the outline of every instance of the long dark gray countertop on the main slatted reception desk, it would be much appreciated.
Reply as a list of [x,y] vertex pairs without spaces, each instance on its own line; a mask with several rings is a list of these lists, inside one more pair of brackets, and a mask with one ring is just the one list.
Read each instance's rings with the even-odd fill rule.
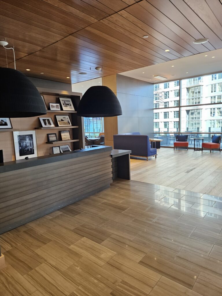
[[6,163],[0,163],[0,173],[11,172],[13,170],[20,170],[22,168],[30,168],[36,165],[44,165],[47,163],[54,163],[61,160],[73,159],[76,157],[87,156],[107,151],[111,152],[111,150],[111,146],[99,146],[59,154],[32,157],[27,160],[21,159],[15,161],[8,161]]

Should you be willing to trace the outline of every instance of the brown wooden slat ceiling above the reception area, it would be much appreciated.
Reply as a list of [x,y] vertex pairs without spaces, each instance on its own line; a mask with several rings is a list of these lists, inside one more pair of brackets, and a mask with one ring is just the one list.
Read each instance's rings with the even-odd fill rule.
[[0,40],[18,70],[76,83],[222,48],[221,15],[219,0],[0,0]]

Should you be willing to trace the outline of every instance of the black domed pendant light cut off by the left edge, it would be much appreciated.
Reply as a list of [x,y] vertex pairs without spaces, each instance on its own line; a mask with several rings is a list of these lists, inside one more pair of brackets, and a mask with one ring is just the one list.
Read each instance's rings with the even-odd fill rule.
[[0,68],[0,117],[33,117],[46,114],[34,84],[20,71]]

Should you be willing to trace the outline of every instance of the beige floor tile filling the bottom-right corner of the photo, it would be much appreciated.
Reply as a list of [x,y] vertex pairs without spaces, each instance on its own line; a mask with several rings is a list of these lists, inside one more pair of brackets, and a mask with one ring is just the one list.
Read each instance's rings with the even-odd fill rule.
[[222,295],[222,279],[203,272],[197,278],[193,290],[203,296],[221,296]]

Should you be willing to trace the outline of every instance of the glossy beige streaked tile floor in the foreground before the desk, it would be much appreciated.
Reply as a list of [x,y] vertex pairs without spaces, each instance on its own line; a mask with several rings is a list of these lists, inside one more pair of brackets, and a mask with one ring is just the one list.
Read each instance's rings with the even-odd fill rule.
[[221,296],[222,197],[116,180],[0,236],[4,296]]

